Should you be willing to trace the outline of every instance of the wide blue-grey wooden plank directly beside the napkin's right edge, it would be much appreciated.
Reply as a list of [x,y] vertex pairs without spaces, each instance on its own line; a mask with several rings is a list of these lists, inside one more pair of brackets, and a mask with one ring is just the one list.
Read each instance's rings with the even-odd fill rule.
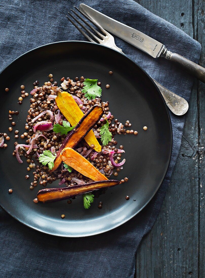
[[[138,0],[193,37],[192,1]],[[183,14],[184,13],[184,14]],[[182,24],[183,23],[183,24]],[[136,255],[136,277],[198,276],[198,114],[196,84],[171,184],[151,232]]]

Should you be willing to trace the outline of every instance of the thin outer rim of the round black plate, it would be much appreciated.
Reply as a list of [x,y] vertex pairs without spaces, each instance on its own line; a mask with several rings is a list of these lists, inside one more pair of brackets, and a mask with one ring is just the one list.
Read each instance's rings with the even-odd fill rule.
[[96,231],[96,232],[92,232],[91,234],[87,234],[87,235],[82,235],[82,236],[75,236],[75,235],[59,235],[59,234],[55,234],[55,233],[50,233],[50,232],[45,232],[44,230],[41,230],[39,228],[36,228],[34,226],[31,226],[29,224],[26,224],[24,222],[22,222],[20,219],[18,219],[17,217],[15,217],[11,212],[9,212],[5,207],[3,207],[0,203],[0,206],[9,214],[11,215],[14,219],[16,219],[18,222],[20,222],[21,224],[25,225],[26,227],[29,227],[33,230],[36,230],[38,232],[42,232],[43,234],[47,234],[47,235],[53,235],[53,236],[57,236],[57,237],[63,237],[63,238],[83,238],[83,237],[91,237],[91,236],[94,236],[94,235],[100,235],[100,234],[104,234],[108,231],[111,231],[111,230],[114,230],[115,228],[121,226],[121,225],[124,225],[126,222],[128,222],[129,220],[131,220],[132,218],[134,218],[137,214],[139,214],[139,212],[141,212],[144,207],[146,207],[146,205],[148,205],[148,203],[152,200],[152,198],[155,196],[156,192],[159,190],[160,186],[162,185],[163,181],[164,181],[164,178],[167,174],[167,171],[168,171],[168,168],[170,166],[170,161],[171,161],[171,158],[172,158],[172,149],[173,149],[173,129],[172,129],[172,122],[171,122],[171,117],[170,117],[170,113],[169,113],[169,110],[167,108],[167,105],[166,105],[166,102],[159,90],[159,88],[156,86],[155,82],[152,80],[152,78],[148,75],[148,73],[143,69],[141,68],[141,66],[139,66],[139,64],[137,64],[135,61],[133,61],[131,58],[129,58],[127,55],[125,55],[124,53],[121,53],[115,49],[112,49],[108,46],[105,46],[105,45],[102,45],[102,44],[97,44],[97,43],[92,43],[92,42],[88,42],[88,41],[77,41],[77,40],[71,40],[71,41],[57,41],[57,42],[53,42],[53,43],[48,43],[48,44],[44,44],[44,45],[41,45],[41,46],[38,46],[38,47],[35,47],[33,49],[30,49],[29,51],[21,54],[20,56],[18,56],[17,58],[15,58],[11,63],[9,63],[5,68],[2,69],[2,71],[0,72],[0,75],[3,73],[4,70],[6,70],[6,68],[8,68],[11,64],[13,64],[16,60],[20,59],[22,56],[32,52],[32,51],[35,51],[36,49],[39,49],[39,48],[43,48],[43,47],[46,47],[46,46],[49,46],[49,45],[52,45],[52,44],[59,44],[59,43],[84,43],[84,44],[93,44],[93,45],[98,45],[99,47],[103,47],[103,48],[108,48],[110,49],[111,51],[115,51],[117,53],[119,53],[120,55],[123,55],[125,56],[128,60],[130,60],[132,63],[134,63],[136,66],[138,66],[138,68],[149,78],[149,80],[152,82],[152,84],[155,86],[156,90],[158,91],[158,94],[160,95],[163,103],[164,103],[164,106],[165,106],[165,109],[166,109],[166,112],[167,112],[167,115],[168,115],[168,121],[169,121],[169,128],[170,128],[170,157],[169,157],[169,161],[168,161],[168,166],[167,166],[167,170],[165,172],[165,174],[163,175],[162,179],[161,179],[161,182],[158,184],[158,186],[156,187],[153,195],[149,198],[149,200],[143,205],[143,207],[141,207],[141,209],[139,209],[136,213],[134,213],[133,215],[131,215],[128,219],[124,220],[123,222],[120,222],[119,224],[116,224],[114,225],[111,229],[108,228],[108,229],[105,229],[103,230],[102,232],[101,231]]

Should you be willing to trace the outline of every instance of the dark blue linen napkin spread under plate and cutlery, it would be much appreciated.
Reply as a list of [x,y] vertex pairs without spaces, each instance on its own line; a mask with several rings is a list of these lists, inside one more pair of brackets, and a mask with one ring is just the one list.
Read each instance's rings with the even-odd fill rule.
[[[69,8],[80,3],[77,0],[0,0],[0,70],[37,46],[63,40],[85,40],[65,19]],[[201,51],[198,42],[134,1],[85,0],[84,3],[198,63]],[[165,59],[153,59],[119,38],[115,42],[151,77],[189,101],[192,77]],[[136,249],[156,220],[179,153],[185,117],[170,115],[173,126],[170,166],[160,189],[141,213],[105,234],[64,239],[32,230],[0,208],[0,276],[134,277]]]

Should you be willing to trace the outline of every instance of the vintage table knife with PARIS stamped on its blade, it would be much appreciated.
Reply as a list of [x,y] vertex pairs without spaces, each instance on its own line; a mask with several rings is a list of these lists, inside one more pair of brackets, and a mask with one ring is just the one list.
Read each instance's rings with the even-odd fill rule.
[[199,66],[198,64],[184,58],[177,53],[173,53],[172,51],[168,50],[164,44],[132,27],[129,27],[115,19],[106,16],[105,14],[96,11],[85,4],[80,4],[80,10],[108,32],[123,39],[124,41],[127,41],[136,48],[149,54],[153,58],[163,57],[179,64],[191,75],[205,83],[205,68],[202,66]]

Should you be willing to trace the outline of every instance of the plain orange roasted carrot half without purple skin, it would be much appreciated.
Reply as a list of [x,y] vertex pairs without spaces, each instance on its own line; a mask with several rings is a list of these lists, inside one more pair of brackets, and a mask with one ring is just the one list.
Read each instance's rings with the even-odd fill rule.
[[98,171],[95,166],[93,166],[85,157],[80,155],[72,148],[64,148],[60,156],[62,161],[64,161],[67,165],[82,175],[91,178],[91,180],[97,182],[108,179],[102,173],[100,173],[100,171]]

